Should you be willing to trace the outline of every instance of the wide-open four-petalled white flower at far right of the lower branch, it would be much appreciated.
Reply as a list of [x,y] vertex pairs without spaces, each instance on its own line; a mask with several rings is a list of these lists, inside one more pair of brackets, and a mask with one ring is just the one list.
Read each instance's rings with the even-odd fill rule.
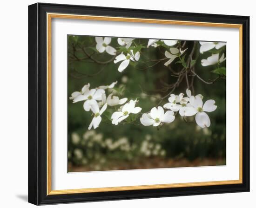
[[191,107],[186,107],[184,111],[184,116],[194,116],[195,122],[201,128],[209,127],[211,122],[209,116],[205,112],[212,112],[216,110],[217,106],[215,105],[214,100],[207,100],[204,105],[202,103],[201,97],[191,97],[190,98]]

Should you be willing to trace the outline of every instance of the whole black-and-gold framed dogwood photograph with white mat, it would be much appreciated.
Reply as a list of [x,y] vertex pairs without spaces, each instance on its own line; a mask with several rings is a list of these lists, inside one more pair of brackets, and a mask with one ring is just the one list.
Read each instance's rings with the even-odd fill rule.
[[249,191],[249,17],[28,7],[28,201]]

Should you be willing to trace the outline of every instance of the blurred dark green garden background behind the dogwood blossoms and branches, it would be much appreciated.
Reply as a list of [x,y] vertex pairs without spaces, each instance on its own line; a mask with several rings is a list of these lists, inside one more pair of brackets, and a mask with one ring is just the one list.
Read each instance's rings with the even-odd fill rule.
[[[145,64],[132,62],[120,73],[117,71],[120,63],[114,64],[113,56],[96,51],[94,37],[70,35],[67,38],[68,172],[226,164],[226,80],[224,78],[218,79],[214,84],[205,84],[194,78],[195,95],[202,94],[203,102],[214,99],[218,106],[214,112],[208,113],[211,120],[209,128],[200,128],[194,121],[195,116],[189,118],[188,123],[184,122],[179,114],[175,116],[173,123],[166,123],[159,129],[142,126],[139,119],[133,124],[115,126],[103,114],[100,126],[95,130],[88,130],[93,118],[91,112],[83,110],[83,102],[73,104],[72,100],[68,100],[72,92],[81,91],[85,84],[90,83],[92,89],[118,81],[116,87],[123,90],[122,97],[137,98],[139,100],[137,106],[140,106],[141,113],[144,113],[157,105],[159,100],[155,97],[168,94],[164,86],[174,83],[177,78],[168,67],[164,66],[166,60],[146,70],[140,70],[145,68]],[[135,39],[135,43],[147,46],[148,39]],[[179,42],[181,45],[183,43],[184,41]],[[193,44],[192,41],[186,41],[185,48],[188,47],[188,50],[184,54],[189,54]],[[120,46],[117,38],[112,38],[110,45],[117,49]],[[216,66],[201,65],[201,59],[208,58],[211,53],[200,54],[199,47],[200,44],[197,42],[194,53],[196,72],[205,80],[213,80],[218,77],[211,72]],[[163,53],[166,50],[163,46],[142,48],[143,55],[140,61],[146,60],[147,57],[164,58]],[[223,50],[225,52],[225,47],[222,48]],[[95,63],[85,52],[99,62],[111,61],[107,64]],[[171,67],[179,71],[182,65],[175,63],[176,61],[178,59],[171,64]],[[225,66],[225,62],[221,66]],[[189,77],[190,79],[192,77]],[[183,92],[186,95],[186,89],[187,84],[184,79],[173,93],[178,95]],[[106,92],[108,96],[110,91],[106,90]],[[161,105],[167,102],[168,98]]]

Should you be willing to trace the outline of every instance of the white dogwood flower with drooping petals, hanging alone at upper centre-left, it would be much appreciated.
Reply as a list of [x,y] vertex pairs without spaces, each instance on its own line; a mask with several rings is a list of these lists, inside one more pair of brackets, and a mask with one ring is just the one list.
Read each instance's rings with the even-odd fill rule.
[[127,56],[125,56],[123,53],[115,57],[114,63],[121,62],[121,64],[118,67],[118,71],[122,72],[126,69],[126,67],[129,65],[130,60],[132,61],[138,61],[140,59],[140,52],[136,52],[135,55],[133,54],[133,50],[130,50],[130,54],[127,53]]

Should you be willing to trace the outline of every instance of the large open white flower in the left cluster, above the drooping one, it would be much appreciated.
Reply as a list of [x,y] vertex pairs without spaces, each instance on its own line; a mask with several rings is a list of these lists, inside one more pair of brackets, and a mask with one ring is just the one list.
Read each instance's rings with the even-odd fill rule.
[[96,109],[98,108],[98,104],[97,101],[101,101],[102,100],[102,94],[105,93],[105,91],[103,89],[91,89],[89,91],[87,91],[86,93],[84,93],[83,95],[79,95],[77,97],[74,98],[73,103],[79,102],[79,101],[83,101],[85,100],[84,104],[83,104],[83,108],[85,111],[89,111],[92,109]]

